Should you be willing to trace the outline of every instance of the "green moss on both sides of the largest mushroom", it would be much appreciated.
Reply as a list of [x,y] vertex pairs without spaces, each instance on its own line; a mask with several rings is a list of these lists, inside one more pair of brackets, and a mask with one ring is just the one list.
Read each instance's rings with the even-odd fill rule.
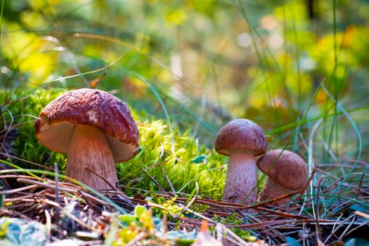
[[[45,105],[64,92],[62,89],[39,89],[29,93],[0,91],[0,105],[3,105],[0,126],[4,129],[14,119],[13,126],[18,129],[14,147],[18,156],[39,164],[53,165],[56,162],[61,172],[65,170],[66,155],[53,153],[37,142],[34,120]],[[171,133],[162,120],[148,118],[145,112],[130,108],[140,131],[140,149],[134,159],[117,164],[125,191],[129,195],[146,193],[150,186],[158,191],[154,179],[164,190],[170,191],[172,186],[176,192],[191,193],[197,182],[199,194],[220,199],[226,179],[226,159],[198,144],[189,131],[182,134],[174,127]],[[25,162],[19,164],[37,168]]]

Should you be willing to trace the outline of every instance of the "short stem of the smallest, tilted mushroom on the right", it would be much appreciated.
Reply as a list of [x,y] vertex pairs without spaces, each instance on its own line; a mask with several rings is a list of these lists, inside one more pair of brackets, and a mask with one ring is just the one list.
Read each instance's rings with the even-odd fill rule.
[[[273,198],[278,198],[281,195],[291,193],[292,191],[293,190],[290,190],[289,188],[285,188],[281,186],[280,184],[274,182],[273,179],[268,178],[266,179],[264,187],[259,194],[258,201],[271,200]],[[291,202],[291,199],[286,198],[283,200],[279,200],[277,202],[273,202],[270,205],[280,207],[290,202]]]

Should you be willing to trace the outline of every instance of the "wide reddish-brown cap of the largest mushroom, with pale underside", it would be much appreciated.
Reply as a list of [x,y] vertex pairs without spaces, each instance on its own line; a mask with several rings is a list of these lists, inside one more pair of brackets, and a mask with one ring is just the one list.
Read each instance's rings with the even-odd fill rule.
[[96,89],[69,91],[48,103],[34,124],[46,148],[67,153],[75,125],[103,131],[115,162],[131,159],[138,149],[138,129],[127,105]]

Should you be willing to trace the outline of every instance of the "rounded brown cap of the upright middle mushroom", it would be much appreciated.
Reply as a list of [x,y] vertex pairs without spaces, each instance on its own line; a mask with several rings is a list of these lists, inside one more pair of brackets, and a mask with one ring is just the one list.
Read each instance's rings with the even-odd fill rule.
[[230,155],[233,151],[250,151],[254,155],[261,155],[267,147],[263,129],[250,119],[234,119],[216,135],[215,150],[222,155]]

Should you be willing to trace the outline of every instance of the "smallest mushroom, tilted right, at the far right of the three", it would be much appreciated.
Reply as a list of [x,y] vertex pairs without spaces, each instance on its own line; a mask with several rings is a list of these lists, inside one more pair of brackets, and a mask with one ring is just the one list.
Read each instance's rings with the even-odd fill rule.
[[[259,194],[259,201],[278,198],[305,187],[308,171],[304,160],[291,151],[281,152],[282,150],[271,150],[257,161],[257,167],[268,176]],[[279,207],[290,202],[291,199],[287,198],[273,202],[272,205]]]

